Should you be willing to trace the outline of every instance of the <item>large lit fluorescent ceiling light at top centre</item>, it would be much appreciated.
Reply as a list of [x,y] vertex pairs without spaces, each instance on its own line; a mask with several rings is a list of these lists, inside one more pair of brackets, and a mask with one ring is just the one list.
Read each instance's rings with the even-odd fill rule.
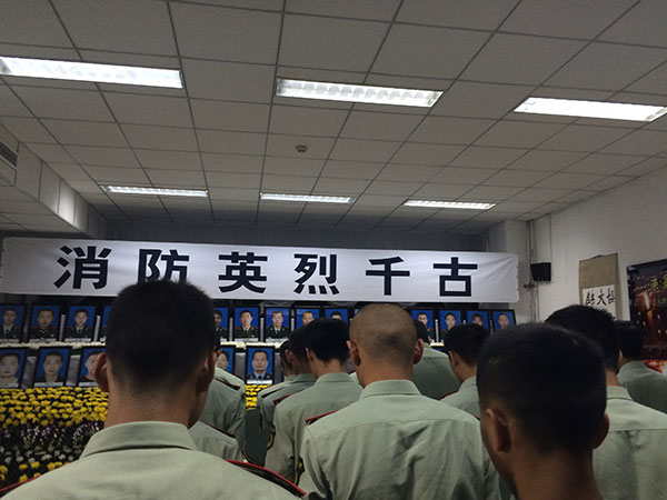
[[326,101],[366,102],[370,104],[416,106],[430,108],[442,92],[434,90],[394,89],[348,83],[306,80],[278,80],[276,96]]

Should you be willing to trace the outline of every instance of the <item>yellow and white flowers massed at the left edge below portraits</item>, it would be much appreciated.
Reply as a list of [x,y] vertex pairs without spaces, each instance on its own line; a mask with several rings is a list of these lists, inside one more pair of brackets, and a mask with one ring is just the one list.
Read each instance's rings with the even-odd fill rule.
[[97,388],[0,390],[0,488],[76,460],[106,419]]

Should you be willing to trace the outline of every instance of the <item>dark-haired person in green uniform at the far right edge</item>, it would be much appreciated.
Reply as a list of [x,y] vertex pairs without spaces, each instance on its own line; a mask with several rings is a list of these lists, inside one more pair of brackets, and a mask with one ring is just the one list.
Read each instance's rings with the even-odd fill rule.
[[618,381],[640,404],[667,413],[667,377],[641,362],[644,329],[629,321],[617,321],[620,343]]

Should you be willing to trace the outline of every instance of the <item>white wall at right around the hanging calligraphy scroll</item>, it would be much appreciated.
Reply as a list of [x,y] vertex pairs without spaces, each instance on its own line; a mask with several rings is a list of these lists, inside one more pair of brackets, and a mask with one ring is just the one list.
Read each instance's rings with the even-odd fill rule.
[[608,253],[618,253],[619,319],[629,319],[626,268],[667,259],[667,168],[545,216],[534,228],[537,241],[550,242],[538,244],[536,254],[537,261],[551,258],[552,281],[538,287],[540,320],[578,302],[580,260]]

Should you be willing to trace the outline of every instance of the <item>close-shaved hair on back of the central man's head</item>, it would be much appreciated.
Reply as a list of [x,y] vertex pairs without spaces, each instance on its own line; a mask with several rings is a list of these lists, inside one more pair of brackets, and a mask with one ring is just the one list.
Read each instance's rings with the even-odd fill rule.
[[417,341],[415,322],[399,306],[366,306],[355,316],[350,327],[350,339],[375,361],[412,364]]

